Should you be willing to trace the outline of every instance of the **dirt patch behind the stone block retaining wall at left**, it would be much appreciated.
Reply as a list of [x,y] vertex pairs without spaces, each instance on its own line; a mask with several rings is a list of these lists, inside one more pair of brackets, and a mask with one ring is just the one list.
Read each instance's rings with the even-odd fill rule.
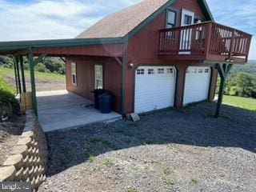
[[22,134],[25,121],[25,116],[14,115],[8,122],[0,122],[0,166],[18,142],[18,137]]

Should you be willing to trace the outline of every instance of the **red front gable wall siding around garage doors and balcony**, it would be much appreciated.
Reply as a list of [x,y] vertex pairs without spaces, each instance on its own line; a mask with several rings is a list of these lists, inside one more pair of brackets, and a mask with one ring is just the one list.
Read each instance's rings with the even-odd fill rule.
[[[180,26],[182,8],[193,11],[198,17],[204,18],[197,0],[178,0],[172,7],[177,11],[177,26]],[[176,94],[176,107],[182,106],[185,83],[185,71],[188,66],[202,66],[198,62],[168,62],[158,58],[159,30],[166,28],[166,12],[160,14],[149,25],[142,29],[133,38],[129,39],[127,46],[127,60],[134,63],[134,70],[126,69],[126,113],[134,111],[134,73],[138,65],[170,65],[178,67],[178,93]],[[213,84],[215,82],[213,81]],[[216,83],[215,83],[216,84]],[[215,86],[215,85],[212,85]],[[212,97],[213,94],[211,94]]]

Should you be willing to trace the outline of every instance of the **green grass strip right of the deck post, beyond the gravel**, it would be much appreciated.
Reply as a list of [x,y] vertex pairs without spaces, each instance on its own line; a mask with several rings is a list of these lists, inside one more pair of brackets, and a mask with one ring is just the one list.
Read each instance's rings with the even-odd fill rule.
[[255,98],[240,98],[240,97],[224,95],[223,103],[226,103],[230,106],[238,106],[246,110],[256,111]]

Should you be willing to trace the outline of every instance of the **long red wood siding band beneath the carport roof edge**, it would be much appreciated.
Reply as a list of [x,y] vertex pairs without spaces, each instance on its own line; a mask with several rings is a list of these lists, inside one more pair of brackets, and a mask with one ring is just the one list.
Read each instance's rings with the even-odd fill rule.
[[35,55],[47,54],[47,56],[88,55],[88,56],[121,57],[122,45],[42,48],[42,49],[34,50],[33,52]]

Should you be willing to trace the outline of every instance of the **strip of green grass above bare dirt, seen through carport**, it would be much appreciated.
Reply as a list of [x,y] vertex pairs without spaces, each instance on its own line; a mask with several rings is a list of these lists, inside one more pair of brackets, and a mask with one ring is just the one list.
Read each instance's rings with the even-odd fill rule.
[[[5,77],[14,77],[14,70],[0,67],[0,76],[3,75]],[[30,78],[30,71],[25,70],[26,78]],[[43,80],[50,81],[66,81],[66,75],[63,74],[50,74],[50,73],[41,73],[35,71],[35,77]]]

